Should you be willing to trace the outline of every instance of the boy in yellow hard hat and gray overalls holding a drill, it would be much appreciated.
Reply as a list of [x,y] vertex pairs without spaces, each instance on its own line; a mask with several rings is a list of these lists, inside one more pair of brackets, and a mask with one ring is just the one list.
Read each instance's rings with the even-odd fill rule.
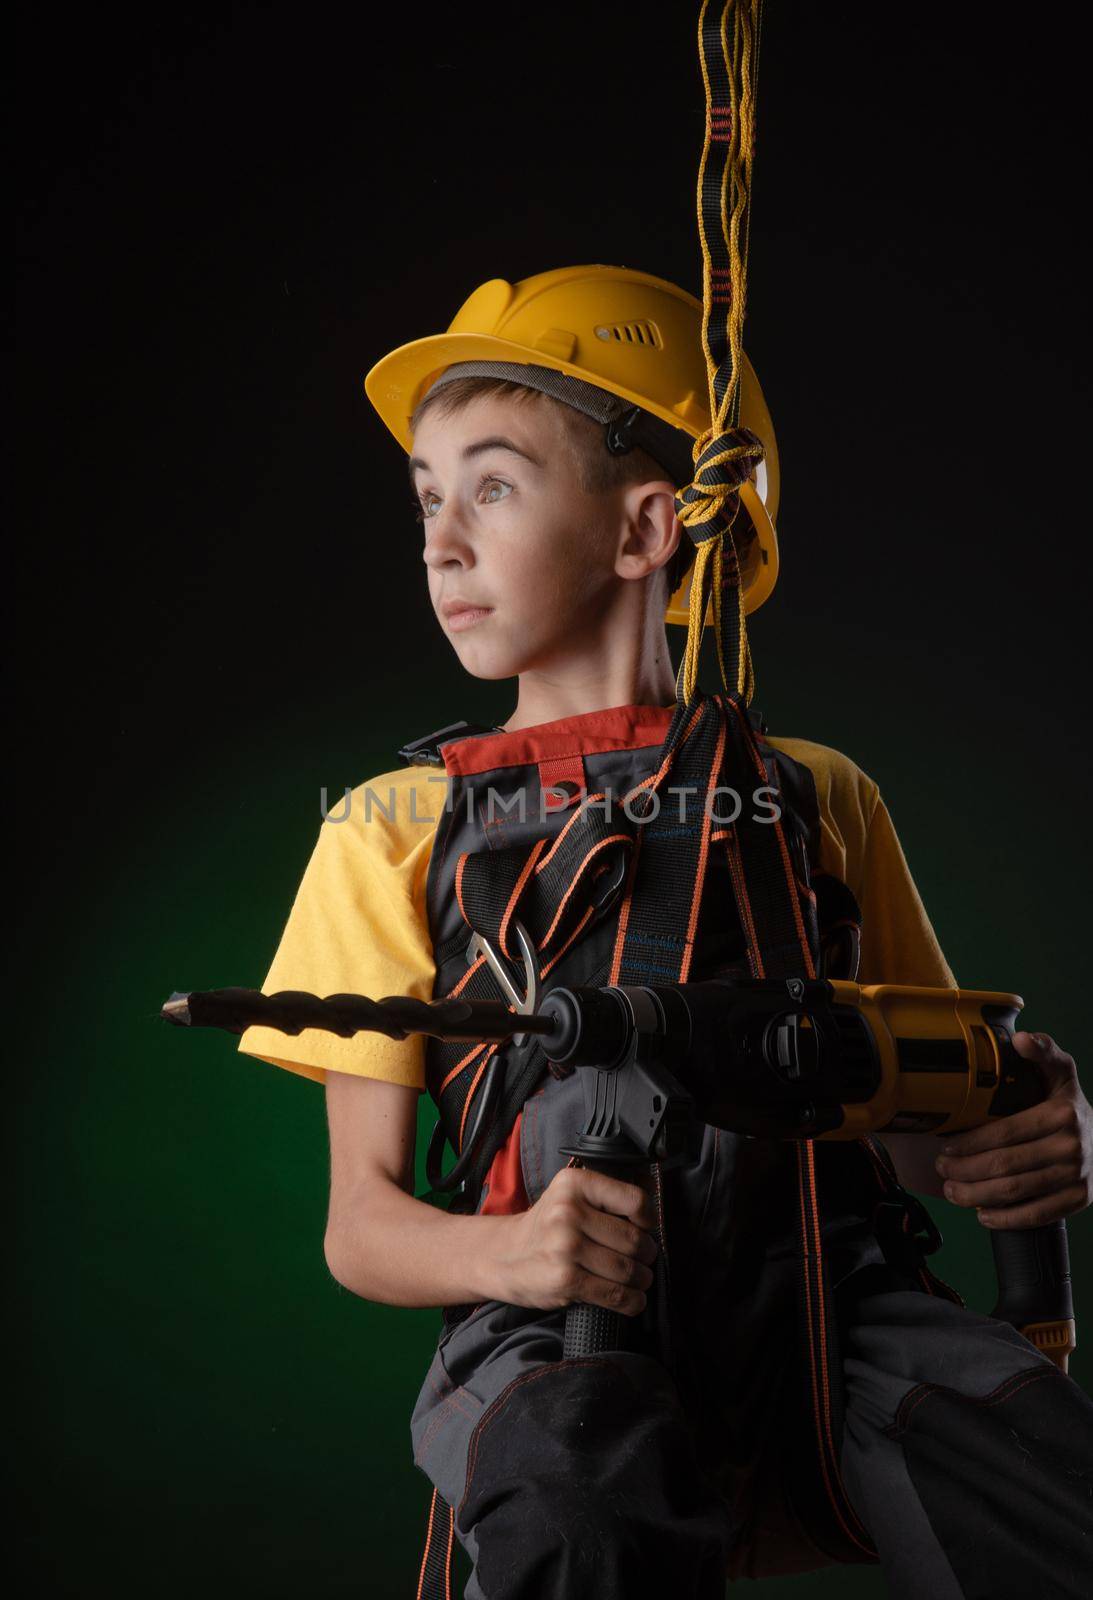
[[[656,771],[675,698],[664,614],[693,554],[680,550],[675,494],[709,424],[699,318],[674,285],[626,269],[493,280],[446,334],[370,373],[370,398],[413,450],[440,626],[472,677],[517,678],[517,704],[499,728],[434,741],[446,786],[411,765],[371,779],[325,822],[266,992],[432,998],[459,992],[469,973],[488,981],[482,954],[467,966],[475,861],[559,840],[592,774],[626,794]],[[754,606],[778,549],[773,434],[751,374],[743,422],[767,446],[741,496]],[[808,741],[767,738],[763,749],[789,816],[811,816],[789,835],[808,842],[800,872],[861,909],[859,981],[954,986],[872,779]],[[491,808],[488,790],[514,773],[525,798],[531,784],[531,816],[514,816],[507,789]],[[485,848],[464,851],[467,838]],[[711,848],[696,885],[688,981],[743,970],[731,829],[711,840],[723,850]],[[607,981],[594,970],[618,902],[608,912],[615,922],[589,901],[559,954],[539,968],[544,941],[522,981]],[[518,962],[509,974],[520,976]],[[874,1549],[904,1597],[927,1586],[954,1600],[1045,1582],[1082,1592],[1093,1408],[1015,1328],[946,1293],[912,1250],[880,1248],[851,1171],[856,1146],[829,1142],[821,1162],[845,1386],[837,1454],[819,1469],[824,1522],[794,1432],[803,1355],[792,1342],[787,1141],[699,1126],[683,1173],[651,1194],[565,1165],[579,1075],[526,1074],[526,1046],[514,1042],[499,1056],[506,1083],[528,1091],[470,1186],[474,1210],[459,1214],[413,1197],[418,1093],[429,1083],[453,1146],[470,1149],[493,1051],[261,1027],[240,1048],[325,1082],[325,1250],[338,1282],[446,1309],[411,1429],[437,1491],[430,1533],[453,1530],[467,1549],[470,1600],[635,1595],[667,1582],[714,1595],[730,1573],[867,1560]],[[1043,1104],[951,1141],[947,1157],[923,1134],[883,1141],[903,1184],[938,1195],[946,1179],[949,1198],[981,1208],[986,1226],[1037,1226],[1090,1203],[1093,1114],[1074,1062],[1042,1037],[1018,1034],[1016,1048],[1043,1069]],[[456,1088],[466,1098],[453,1122]],[[573,1302],[635,1325],[656,1302],[663,1317],[667,1258],[664,1344],[560,1358]],[[823,1394],[839,1411],[839,1387]],[[434,1550],[435,1538],[422,1584],[435,1578]]]

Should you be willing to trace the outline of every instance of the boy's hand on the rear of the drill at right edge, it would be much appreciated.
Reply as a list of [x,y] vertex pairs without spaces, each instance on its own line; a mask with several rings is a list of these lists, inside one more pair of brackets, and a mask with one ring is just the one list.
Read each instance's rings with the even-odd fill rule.
[[1047,1099],[947,1138],[936,1160],[946,1200],[976,1206],[986,1227],[1040,1227],[1093,1203],[1093,1106],[1074,1058],[1047,1034],[1018,1032],[1013,1048],[1040,1067]]

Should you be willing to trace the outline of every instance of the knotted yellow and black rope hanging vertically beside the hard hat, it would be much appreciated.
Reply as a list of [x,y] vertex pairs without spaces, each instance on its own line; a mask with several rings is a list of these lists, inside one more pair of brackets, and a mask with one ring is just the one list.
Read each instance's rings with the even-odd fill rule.
[[698,659],[711,598],[722,686],[743,694],[744,702],[751,702],[755,688],[733,528],[741,510],[739,486],[763,459],[760,440],[739,426],[760,21],[762,0],[723,0],[719,19],[711,14],[711,0],[703,0],[698,19],[706,86],[698,234],[712,421],[695,440],[693,480],[675,496],[675,512],[698,547],[687,646],[675,680],[675,696],[685,706],[698,694]]

